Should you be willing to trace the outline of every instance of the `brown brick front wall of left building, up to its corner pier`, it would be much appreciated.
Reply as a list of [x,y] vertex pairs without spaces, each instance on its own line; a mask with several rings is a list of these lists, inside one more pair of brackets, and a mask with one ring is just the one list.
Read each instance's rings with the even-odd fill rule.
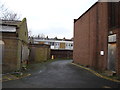
[[17,70],[17,40],[3,39],[4,41],[4,55],[3,55],[3,73]]

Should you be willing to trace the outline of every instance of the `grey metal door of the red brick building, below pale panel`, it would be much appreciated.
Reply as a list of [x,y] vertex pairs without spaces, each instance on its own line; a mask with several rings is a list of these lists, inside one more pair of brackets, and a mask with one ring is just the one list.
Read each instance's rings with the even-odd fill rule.
[[108,70],[115,71],[116,43],[108,44]]

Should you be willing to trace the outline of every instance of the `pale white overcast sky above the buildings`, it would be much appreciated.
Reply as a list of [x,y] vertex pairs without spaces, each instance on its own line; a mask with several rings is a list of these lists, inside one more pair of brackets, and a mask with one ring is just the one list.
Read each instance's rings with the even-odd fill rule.
[[32,35],[72,38],[73,20],[97,0],[0,0],[7,8],[27,18]]

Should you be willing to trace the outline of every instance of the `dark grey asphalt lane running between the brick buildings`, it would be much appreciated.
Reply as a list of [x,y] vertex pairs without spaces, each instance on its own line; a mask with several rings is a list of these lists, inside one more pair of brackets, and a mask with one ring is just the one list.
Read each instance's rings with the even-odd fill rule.
[[91,72],[58,60],[30,70],[29,77],[3,82],[3,88],[120,88],[120,83],[102,79]]

